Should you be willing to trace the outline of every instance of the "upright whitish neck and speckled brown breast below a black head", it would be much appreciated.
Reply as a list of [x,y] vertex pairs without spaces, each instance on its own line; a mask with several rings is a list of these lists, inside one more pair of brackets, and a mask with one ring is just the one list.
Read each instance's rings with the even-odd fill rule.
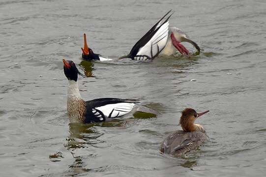
[[85,112],[86,104],[81,98],[78,82],[69,80],[67,89],[67,114],[70,122],[83,122]]

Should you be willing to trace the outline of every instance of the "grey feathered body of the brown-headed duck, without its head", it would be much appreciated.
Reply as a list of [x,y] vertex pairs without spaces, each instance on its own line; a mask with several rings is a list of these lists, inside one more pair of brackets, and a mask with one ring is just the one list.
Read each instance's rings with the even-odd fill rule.
[[161,152],[181,157],[185,153],[197,149],[208,137],[201,131],[185,132],[177,130],[162,143]]

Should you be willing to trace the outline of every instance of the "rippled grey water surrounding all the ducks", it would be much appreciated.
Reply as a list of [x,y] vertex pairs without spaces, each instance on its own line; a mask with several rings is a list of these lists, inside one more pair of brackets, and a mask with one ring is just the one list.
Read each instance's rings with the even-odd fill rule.
[[[201,55],[80,59],[83,32],[117,58],[169,9]],[[265,41],[265,0],[1,0],[0,176],[265,176]],[[162,114],[69,125],[63,58],[89,77],[85,100],[137,98]],[[187,159],[160,154],[186,107],[210,110],[197,121],[210,141]]]

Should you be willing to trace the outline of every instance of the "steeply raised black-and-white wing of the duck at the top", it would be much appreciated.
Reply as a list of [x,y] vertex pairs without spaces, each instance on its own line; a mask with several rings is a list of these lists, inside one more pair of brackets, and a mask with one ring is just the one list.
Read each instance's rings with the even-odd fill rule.
[[169,17],[164,15],[149,31],[133,46],[128,57],[136,60],[154,59],[164,49],[169,31]]

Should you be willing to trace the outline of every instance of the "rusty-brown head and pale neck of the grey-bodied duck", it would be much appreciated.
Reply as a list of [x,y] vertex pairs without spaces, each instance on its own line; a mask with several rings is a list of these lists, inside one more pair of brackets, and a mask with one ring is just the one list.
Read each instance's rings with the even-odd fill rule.
[[179,123],[182,127],[182,129],[185,132],[191,132],[191,131],[202,131],[205,132],[203,126],[199,124],[194,124],[195,120],[202,115],[206,114],[209,111],[205,111],[202,113],[197,113],[192,108],[186,108],[182,111],[182,116],[180,117]]

